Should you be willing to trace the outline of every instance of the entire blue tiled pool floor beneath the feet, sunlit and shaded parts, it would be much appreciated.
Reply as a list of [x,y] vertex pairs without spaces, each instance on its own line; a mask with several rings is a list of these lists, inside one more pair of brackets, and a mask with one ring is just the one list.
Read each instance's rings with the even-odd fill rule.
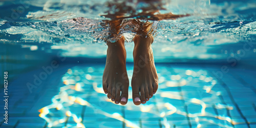
[[[32,93],[27,78],[44,70],[26,73],[9,87],[9,124],[1,127],[255,127],[254,71],[230,69],[218,79],[218,65],[156,66],[158,92],[139,106],[105,96],[102,64],[61,64]],[[132,70],[127,65],[129,78]]]

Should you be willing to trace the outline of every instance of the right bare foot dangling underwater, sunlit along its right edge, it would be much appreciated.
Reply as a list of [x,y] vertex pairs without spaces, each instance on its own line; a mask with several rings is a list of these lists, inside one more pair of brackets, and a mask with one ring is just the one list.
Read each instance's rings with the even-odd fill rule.
[[151,48],[153,40],[152,35],[134,37],[132,89],[135,105],[146,103],[158,89],[158,75]]

